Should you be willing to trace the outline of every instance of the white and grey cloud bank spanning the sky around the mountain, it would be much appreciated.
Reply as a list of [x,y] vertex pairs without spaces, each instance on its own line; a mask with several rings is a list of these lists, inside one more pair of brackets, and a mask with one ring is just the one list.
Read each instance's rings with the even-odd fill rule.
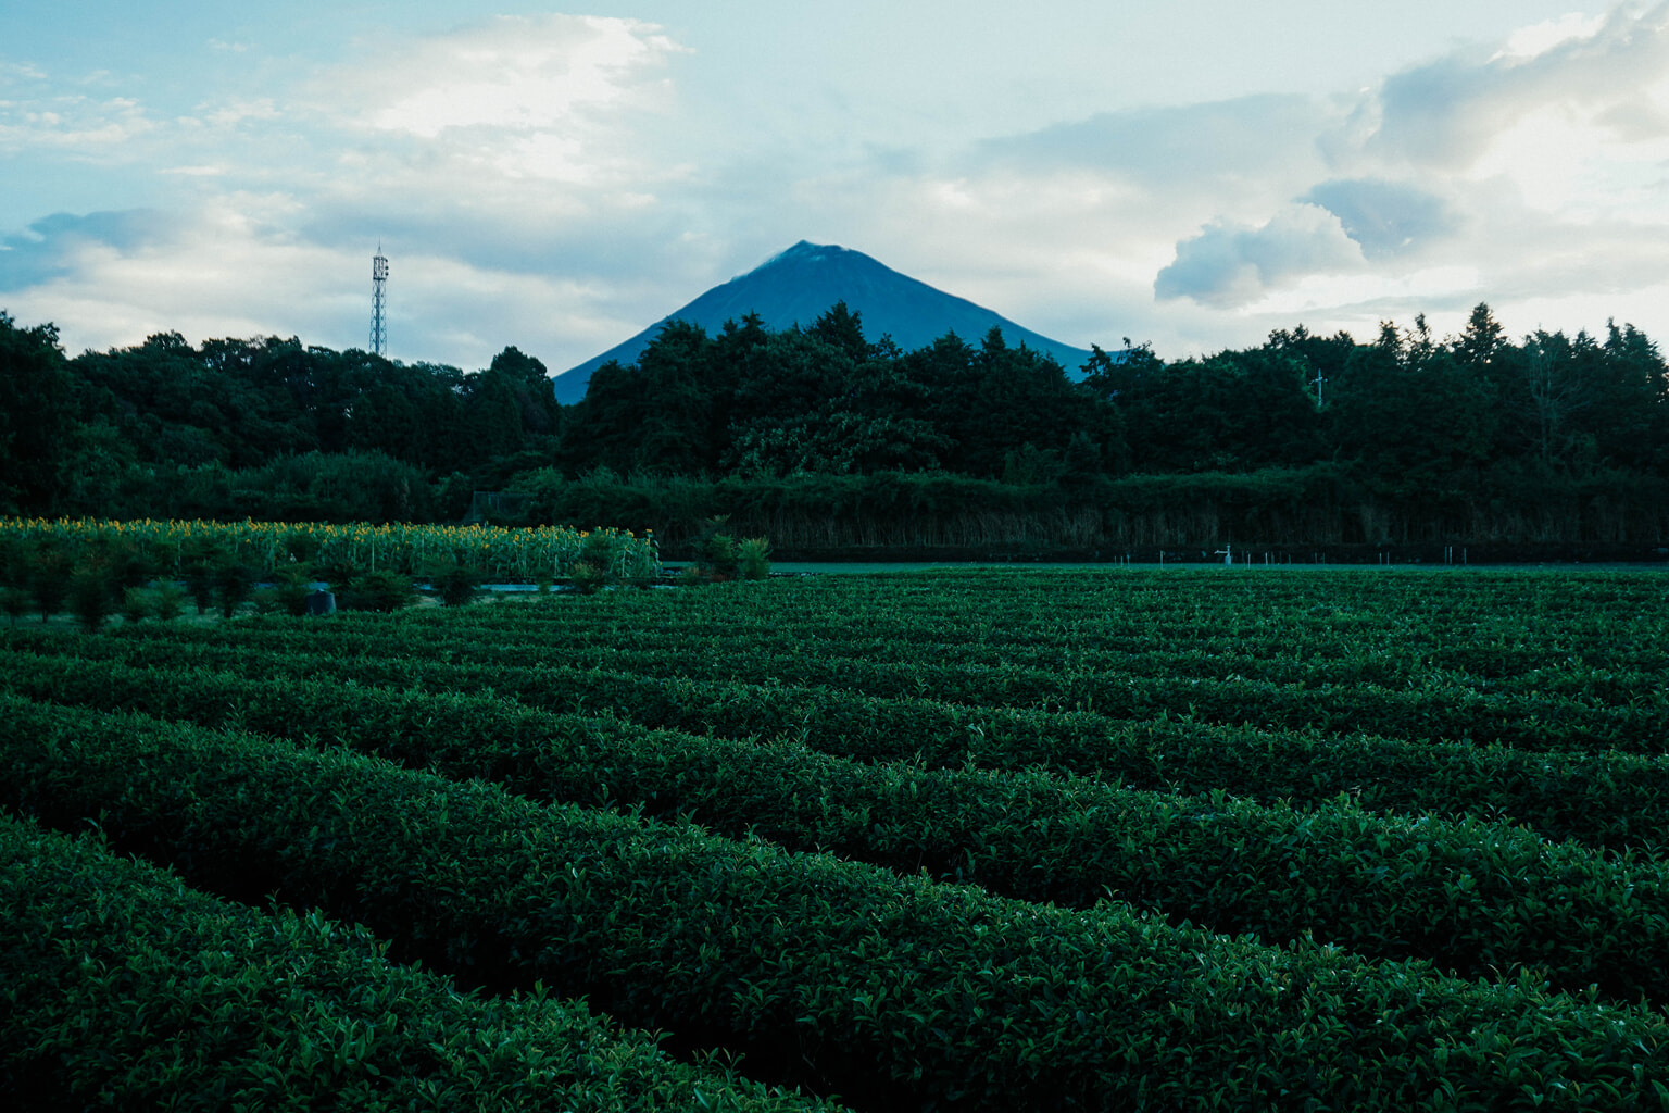
[[72,349],[162,329],[362,345],[381,239],[396,355],[479,367],[516,344],[562,369],[811,239],[1083,347],[1180,355],[1298,319],[1372,335],[1417,312],[1459,329],[1482,299],[1509,327],[1669,335],[1669,3],[1332,97],[1117,108],[931,154],[845,130],[836,95],[738,115],[641,20],[487,18],[299,72],[244,35],[204,48],[250,78],[184,112],[0,63],[0,159],[42,195],[132,184],[0,227],[15,317]]

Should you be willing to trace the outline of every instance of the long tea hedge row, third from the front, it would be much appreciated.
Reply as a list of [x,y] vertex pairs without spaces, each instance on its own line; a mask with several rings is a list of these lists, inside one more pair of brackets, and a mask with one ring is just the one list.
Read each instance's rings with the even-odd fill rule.
[[1103,896],[1215,931],[1310,933],[1465,976],[1539,966],[1559,988],[1669,1000],[1669,868],[1477,819],[1389,819],[1120,789],[1045,773],[866,766],[541,714],[501,699],[10,657],[53,703],[340,743],[537,799],[684,813],[726,834],[829,849],[1033,901]]

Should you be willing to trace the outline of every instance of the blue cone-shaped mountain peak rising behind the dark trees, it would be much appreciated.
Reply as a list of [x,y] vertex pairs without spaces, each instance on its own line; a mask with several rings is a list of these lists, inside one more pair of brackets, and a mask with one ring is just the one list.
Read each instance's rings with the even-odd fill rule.
[[905,350],[925,347],[946,332],[978,344],[991,325],[996,325],[1010,345],[1025,344],[1046,352],[1068,372],[1077,372],[1090,359],[1083,349],[1021,329],[990,309],[898,274],[863,252],[799,240],[739,279],[716,285],[683,309],[656,320],[624,344],[562,372],[554,380],[556,400],[566,404],[586,397],[591,372],[611,359],[623,365],[636,362],[661,325],[669,320],[688,320],[713,334],[723,329],[726,320],[741,320],[754,312],[768,329],[781,330],[794,324],[809,325],[834,302],[846,302],[846,309],[861,314],[865,337],[880,340],[883,335],[891,335]]

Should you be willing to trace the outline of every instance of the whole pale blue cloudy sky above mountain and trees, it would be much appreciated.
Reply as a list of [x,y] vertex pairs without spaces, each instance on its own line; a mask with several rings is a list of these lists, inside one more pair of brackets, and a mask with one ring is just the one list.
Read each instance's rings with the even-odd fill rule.
[[798,240],[1065,344],[1669,340],[1669,0],[5,0],[0,310],[566,370]]

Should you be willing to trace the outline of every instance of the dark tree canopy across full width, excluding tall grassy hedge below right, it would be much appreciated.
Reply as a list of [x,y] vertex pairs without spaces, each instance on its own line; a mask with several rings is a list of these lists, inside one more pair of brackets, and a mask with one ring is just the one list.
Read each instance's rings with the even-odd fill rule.
[[[344,494],[349,457],[376,492]],[[1369,342],[1300,324],[1173,362],[1127,340],[1070,372],[996,329],[901,350],[836,304],[784,330],[669,322],[564,407],[516,347],[469,374],[177,332],[70,359],[50,324],[0,314],[0,511],[27,514],[456,517],[471,489],[599,469],[943,474],[1087,499],[1128,476],[1329,467],[1392,506],[1475,506],[1669,477],[1669,375],[1629,324],[1514,342],[1487,304],[1457,337],[1424,317]]]

